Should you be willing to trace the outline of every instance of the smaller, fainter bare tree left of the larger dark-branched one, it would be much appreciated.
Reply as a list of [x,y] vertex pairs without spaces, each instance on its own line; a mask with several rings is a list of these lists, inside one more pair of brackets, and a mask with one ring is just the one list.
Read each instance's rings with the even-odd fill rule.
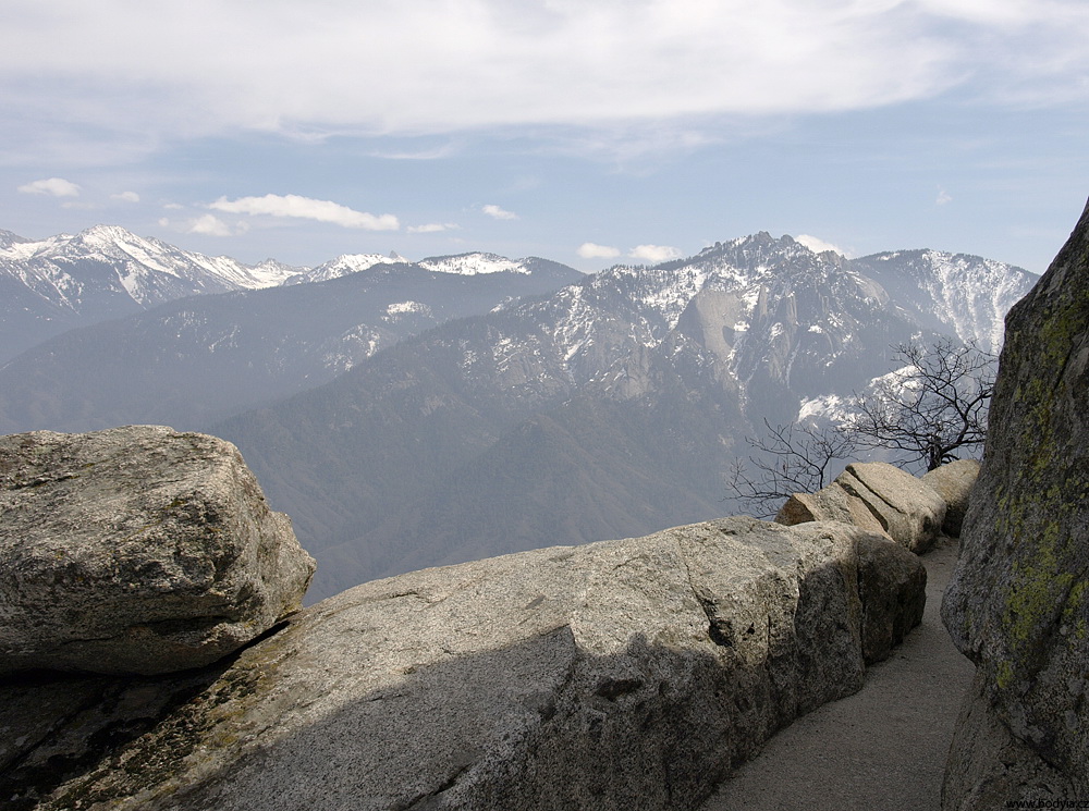
[[835,463],[855,455],[854,437],[840,427],[791,422],[772,427],[764,437],[747,437],[754,455],[735,459],[726,477],[726,497],[758,517],[774,515],[778,502],[793,493],[815,493],[829,483]]

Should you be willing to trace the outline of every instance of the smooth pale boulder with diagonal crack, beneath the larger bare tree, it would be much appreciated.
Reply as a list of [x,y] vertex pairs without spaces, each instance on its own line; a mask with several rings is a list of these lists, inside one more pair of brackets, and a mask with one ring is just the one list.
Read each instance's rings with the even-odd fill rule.
[[945,519],[945,502],[909,472],[884,462],[856,462],[835,483],[860,499],[897,543],[915,553],[934,544]]

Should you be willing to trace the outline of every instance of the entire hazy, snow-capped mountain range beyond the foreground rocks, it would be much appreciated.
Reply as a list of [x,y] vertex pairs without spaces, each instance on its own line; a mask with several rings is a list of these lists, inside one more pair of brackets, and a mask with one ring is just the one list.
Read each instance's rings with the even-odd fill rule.
[[[979,257],[846,260],[760,233],[589,277],[486,254],[341,257],[248,277],[209,270],[234,268],[225,259],[189,260],[207,277],[157,259],[191,288],[151,307],[143,291],[166,280],[130,263],[150,249],[112,229],[81,237],[113,256],[107,233],[129,259],[107,273],[65,237],[73,281],[53,290],[140,291],[125,305],[139,311],[0,368],[0,429],[166,422],[234,441],[318,558],[314,598],[729,512],[722,474],[764,419],[865,388],[890,371],[896,343],[941,334],[996,348],[1006,310],[1036,281]],[[45,267],[33,257],[48,251],[28,247],[45,244],[4,234],[0,257]],[[83,281],[82,268],[109,283]],[[4,279],[29,275],[21,266]],[[159,282],[122,282],[145,275]],[[208,295],[213,279],[232,292]]]

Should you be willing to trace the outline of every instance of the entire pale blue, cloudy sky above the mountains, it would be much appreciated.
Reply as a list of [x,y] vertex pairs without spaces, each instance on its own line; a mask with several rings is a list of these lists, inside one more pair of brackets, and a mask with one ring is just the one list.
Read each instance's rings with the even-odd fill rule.
[[1086,0],[0,0],[0,229],[584,271],[758,231],[1043,272]]

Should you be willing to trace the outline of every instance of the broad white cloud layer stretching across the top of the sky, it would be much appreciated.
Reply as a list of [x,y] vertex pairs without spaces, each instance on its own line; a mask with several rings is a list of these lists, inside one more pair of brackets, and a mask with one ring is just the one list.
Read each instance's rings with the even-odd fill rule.
[[[290,0],[10,0],[3,103],[9,118],[35,120],[27,133],[48,121],[54,132],[95,124],[130,139],[240,127],[320,138],[842,111],[957,85],[977,97],[1003,88],[1084,97],[1089,69],[1085,0],[320,0],[313,13],[298,9]],[[376,75],[382,81],[359,81]]]

